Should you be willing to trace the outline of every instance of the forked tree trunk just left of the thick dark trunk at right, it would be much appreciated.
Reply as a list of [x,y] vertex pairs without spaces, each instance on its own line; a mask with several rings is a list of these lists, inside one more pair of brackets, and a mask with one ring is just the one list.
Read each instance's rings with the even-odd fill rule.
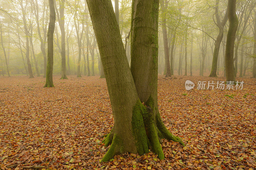
[[226,25],[228,21],[228,13],[226,12],[222,22],[220,22],[220,16],[219,16],[219,2],[220,0],[216,0],[216,20],[217,20],[217,26],[219,28],[219,34],[218,37],[215,41],[215,47],[214,47],[214,52],[213,52],[213,58],[212,58],[212,70],[209,75],[209,77],[217,77],[217,65],[218,65],[218,56],[219,56],[219,51],[220,51],[220,44],[223,39],[224,35],[224,26]]

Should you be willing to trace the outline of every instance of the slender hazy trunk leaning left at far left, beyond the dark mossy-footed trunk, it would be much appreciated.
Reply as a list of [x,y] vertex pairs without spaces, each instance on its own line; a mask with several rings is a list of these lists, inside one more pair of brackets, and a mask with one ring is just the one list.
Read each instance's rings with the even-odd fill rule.
[[25,30],[25,34],[26,34],[26,59],[27,59],[27,65],[28,65],[28,73],[29,73],[29,78],[34,78],[31,63],[29,60],[29,32],[28,32],[28,27],[27,27],[26,14],[25,14],[25,11],[23,8],[23,0],[20,1],[20,7],[21,7],[21,11],[22,11],[23,25],[24,25],[24,30]]

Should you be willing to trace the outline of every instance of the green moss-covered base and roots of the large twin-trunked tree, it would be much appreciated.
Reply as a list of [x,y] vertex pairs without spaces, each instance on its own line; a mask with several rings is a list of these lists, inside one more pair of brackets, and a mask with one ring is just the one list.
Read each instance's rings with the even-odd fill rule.
[[[155,152],[159,159],[164,159],[164,152],[161,147],[161,139],[165,138],[168,141],[179,142],[180,145],[185,146],[179,137],[172,135],[168,131],[160,117],[159,112],[154,113],[153,103],[147,102],[143,105],[140,101],[136,103],[132,112],[132,134],[136,140],[137,152],[135,154],[143,155],[148,153],[149,149]],[[123,145],[122,136],[115,133],[115,127],[112,128],[108,135],[104,135],[102,143],[105,147],[109,147],[107,153],[101,160],[107,162],[117,154],[123,154],[127,148]],[[104,137],[103,136],[103,137]],[[124,149],[125,148],[125,149]],[[132,149],[131,149],[132,150]]]

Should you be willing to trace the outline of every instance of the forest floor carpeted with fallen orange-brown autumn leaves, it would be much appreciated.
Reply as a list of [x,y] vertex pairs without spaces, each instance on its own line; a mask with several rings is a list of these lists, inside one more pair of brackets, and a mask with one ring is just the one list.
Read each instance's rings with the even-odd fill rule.
[[[158,77],[158,104],[166,127],[186,147],[163,140],[165,159],[150,152],[100,164],[108,148],[101,135],[114,124],[105,79],[0,77],[0,167],[22,169],[250,169],[256,167],[256,79],[238,90],[185,89],[197,76]],[[16,167],[16,168],[15,168]],[[46,168],[46,169],[47,169]]]

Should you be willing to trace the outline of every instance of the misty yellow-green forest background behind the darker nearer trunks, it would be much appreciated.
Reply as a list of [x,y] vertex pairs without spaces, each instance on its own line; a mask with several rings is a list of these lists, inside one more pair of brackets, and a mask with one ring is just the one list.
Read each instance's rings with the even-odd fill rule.
[[[54,2],[53,74],[94,76],[104,72],[100,53],[85,0]],[[130,63],[131,0],[112,1],[120,32]],[[0,2],[0,74],[44,76],[47,63],[47,29],[49,4],[47,0],[6,0]],[[238,29],[235,41],[235,74],[255,77],[256,3],[237,1]],[[117,12],[118,11],[118,12]],[[171,74],[225,76],[225,48],[228,32],[226,0],[160,1],[158,74],[166,74],[165,56],[170,58]],[[166,28],[166,30],[163,28]],[[61,32],[65,35],[65,64],[61,57]],[[166,31],[166,32],[165,32]],[[221,40],[221,32],[223,39]],[[167,37],[166,37],[167,35]],[[219,35],[219,36],[218,36]],[[164,39],[167,38],[167,41]],[[220,47],[214,54],[216,43]],[[164,52],[164,45],[168,51]],[[215,52],[216,53],[216,52]],[[213,56],[217,55],[217,62]],[[212,63],[217,71],[211,73]],[[30,63],[30,64],[29,64]],[[254,64],[253,64],[254,63]],[[31,75],[33,74],[33,75]],[[216,75],[215,75],[216,74]]]

